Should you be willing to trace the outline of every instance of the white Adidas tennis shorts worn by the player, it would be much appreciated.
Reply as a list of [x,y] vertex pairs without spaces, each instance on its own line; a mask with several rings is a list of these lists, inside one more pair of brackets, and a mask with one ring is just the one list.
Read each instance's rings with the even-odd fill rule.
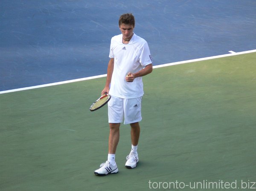
[[108,123],[124,124],[136,123],[142,120],[141,117],[142,97],[124,99],[111,96],[108,102]]

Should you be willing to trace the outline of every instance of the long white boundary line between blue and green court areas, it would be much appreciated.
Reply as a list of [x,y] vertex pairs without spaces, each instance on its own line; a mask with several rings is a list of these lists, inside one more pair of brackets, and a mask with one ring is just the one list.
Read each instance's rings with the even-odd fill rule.
[[[153,66],[153,68],[161,68],[161,67],[173,66],[173,65],[178,65],[178,64],[192,63],[192,62],[197,62],[197,61],[202,61],[202,60],[210,60],[210,59],[215,59],[215,58],[235,56],[235,55],[239,55],[239,54],[247,54],[247,53],[256,52],[256,49],[255,50],[249,50],[249,51],[242,51],[242,52],[234,52],[234,51],[229,51],[229,52],[231,54],[222,54],[222,55],[218,55],[218,56],[212,56],[212,57],[198,58],[198,59],[193,59],[193,60],[185,60],[185,61],[180,61],[180,62],[175,62],[175,63],[162,64],[162,65],[158,65],[158,66]],[[56,85],[61,85],[61,84],[65,84],[65,83],[73,83],[73,82],[79,82],[79,81],[84,81],[84,80],[91,80],[91,79],[106,77],[106,76],[107,76],[107,74],[102,74],[102,75],[98,75],[98,76],[84,77],[84,78],[79,78],[79,79],[75,79],[75,80],[67,80],[67,81],[63,81],[63,82],[43,84],[43,85],[39,85],[39,86],[31,86],[31,87],[26,87],[26,88],[17,88],[17,89],[12,89],[12,90],[0,91],[0,94],[6,94],[6,93],[10,93],[10,92],[23,91],[23,90],[29,90],[29,89],[35,89],[35,88],[43,88],[43,87],[48,87],[48,86],[56,86]]]

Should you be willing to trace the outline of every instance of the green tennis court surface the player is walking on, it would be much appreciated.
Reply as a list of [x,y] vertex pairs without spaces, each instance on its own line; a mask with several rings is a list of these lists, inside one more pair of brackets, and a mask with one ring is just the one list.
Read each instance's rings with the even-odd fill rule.
[[[145,76],[140,162],[124,166],[131,141],[122,125],[119,173],[105,177],[93,171],[107,160],[107,107],[89,111],[105,78],[1,94],[0,190],[206,190],[203,181],[236,181],[241,189],[256,182],[255,59],[242,54]],[[188,187],[197,182],[198,189]]]

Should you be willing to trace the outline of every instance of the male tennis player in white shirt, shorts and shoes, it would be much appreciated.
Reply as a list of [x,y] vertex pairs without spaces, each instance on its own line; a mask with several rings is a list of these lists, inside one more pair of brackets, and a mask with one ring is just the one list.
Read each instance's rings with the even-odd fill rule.
[[132,14],[122,14],[119,29],[122,34],[111,39],[110,60],[105,88],[111,100],[108,102],[108,160],[94,171],[96,175],[117,173],[115,162],[116,147],[119,142],[119,126],[131,125],[131,152],[126,157],[126,168],[135,168],[139,161],[137,145],[140,137],[141,101],[143,92],[142,76],[152,71],[152,59],[148,43],[134,34],[135,20]]

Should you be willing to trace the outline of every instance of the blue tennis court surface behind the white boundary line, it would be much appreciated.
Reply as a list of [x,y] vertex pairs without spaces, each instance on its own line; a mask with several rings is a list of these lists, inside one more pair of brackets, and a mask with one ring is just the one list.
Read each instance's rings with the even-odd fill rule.
[[154,65],[256,49],[255,0],[1,0],[0,91],[106,74],[132,12]]

